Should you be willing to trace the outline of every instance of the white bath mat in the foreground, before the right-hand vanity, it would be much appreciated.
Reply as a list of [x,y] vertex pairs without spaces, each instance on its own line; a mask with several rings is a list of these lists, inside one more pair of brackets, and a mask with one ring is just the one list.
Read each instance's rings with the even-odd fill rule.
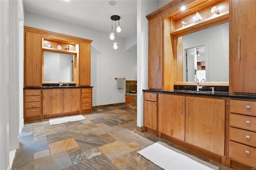
[[156,142],[138,152],[164,170],[218,170],[219,167],[163,143]]

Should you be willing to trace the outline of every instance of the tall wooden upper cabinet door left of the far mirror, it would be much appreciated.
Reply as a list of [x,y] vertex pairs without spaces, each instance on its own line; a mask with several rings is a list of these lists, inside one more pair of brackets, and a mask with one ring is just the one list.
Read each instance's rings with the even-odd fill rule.
[[41,34],[25,32],[25,87],[42,86]]

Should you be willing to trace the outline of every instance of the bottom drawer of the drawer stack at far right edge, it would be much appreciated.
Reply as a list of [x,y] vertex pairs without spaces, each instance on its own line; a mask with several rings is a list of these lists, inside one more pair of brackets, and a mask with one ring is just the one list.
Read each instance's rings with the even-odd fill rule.
[[256,168],[256,148],[230,141],[229,157],[232,160]]

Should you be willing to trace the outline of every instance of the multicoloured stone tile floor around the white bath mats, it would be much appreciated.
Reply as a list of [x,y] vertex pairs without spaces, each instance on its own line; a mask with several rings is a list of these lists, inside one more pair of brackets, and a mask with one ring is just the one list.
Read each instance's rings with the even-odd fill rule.
[[228,170],[148,132],[136,130],[136,113],[126,105],[96,108],[86,120],[50,126],[24,125],[12,170],[160,170],[137,152],[157,141]]

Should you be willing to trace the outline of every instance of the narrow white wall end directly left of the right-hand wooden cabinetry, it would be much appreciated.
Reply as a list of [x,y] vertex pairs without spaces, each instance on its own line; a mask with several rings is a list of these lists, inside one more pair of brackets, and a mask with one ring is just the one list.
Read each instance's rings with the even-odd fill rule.
[[143,126],[143,89],[148,89],[148,19],[146,15],[158,9],[157,0],[137,1],[137,126]]

